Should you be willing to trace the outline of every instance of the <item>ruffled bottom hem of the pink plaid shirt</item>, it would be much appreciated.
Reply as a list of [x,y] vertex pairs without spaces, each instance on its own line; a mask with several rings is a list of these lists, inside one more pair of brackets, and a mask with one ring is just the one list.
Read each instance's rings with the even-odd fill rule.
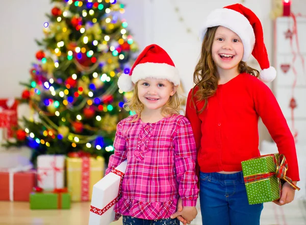
[[124,216],[133,216],[140,219],[169,218],[176,212],[178,199],[166,202],[147,203],[135,199],[121,197],[115,206],[115,212]]

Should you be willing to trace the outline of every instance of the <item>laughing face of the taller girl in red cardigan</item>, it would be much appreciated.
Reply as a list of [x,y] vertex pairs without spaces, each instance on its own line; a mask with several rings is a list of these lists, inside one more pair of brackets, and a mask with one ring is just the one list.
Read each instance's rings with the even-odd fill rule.
[[212,57],[219,74],[224,70],[237,72],[243,57],[243,44],[240,37],[230,29],[219,26],[213,40]]

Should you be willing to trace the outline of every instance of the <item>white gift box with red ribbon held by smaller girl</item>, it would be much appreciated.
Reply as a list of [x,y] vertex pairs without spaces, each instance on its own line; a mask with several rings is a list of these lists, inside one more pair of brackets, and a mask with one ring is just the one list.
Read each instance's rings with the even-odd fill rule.
[[115,219],[114,205],[126,169],[126,160],[93,185],[89,225],[109,225]]

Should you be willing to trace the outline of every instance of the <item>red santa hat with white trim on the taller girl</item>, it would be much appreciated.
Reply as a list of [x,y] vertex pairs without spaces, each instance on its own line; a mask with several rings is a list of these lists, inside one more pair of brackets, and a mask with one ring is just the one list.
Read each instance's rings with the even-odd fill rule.
[[270,82],[275,79],[276,70],[269,63],[262,24],[250,9],[235,4],[212,11],[202,29],[201,39],[208,28],[216,26],[228,28],[241,38],[244,47],[242,61],[246,62],[252,54],[262,69],[259,76],[262,81]]

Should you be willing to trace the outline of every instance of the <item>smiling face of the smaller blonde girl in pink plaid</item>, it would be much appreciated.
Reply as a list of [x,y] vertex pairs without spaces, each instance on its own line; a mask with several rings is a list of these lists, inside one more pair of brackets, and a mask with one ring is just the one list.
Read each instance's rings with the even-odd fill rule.
[[146,78],[137,82],[138,98],[144,105],[144,111],[161,112],[176,88],[167,80]]

